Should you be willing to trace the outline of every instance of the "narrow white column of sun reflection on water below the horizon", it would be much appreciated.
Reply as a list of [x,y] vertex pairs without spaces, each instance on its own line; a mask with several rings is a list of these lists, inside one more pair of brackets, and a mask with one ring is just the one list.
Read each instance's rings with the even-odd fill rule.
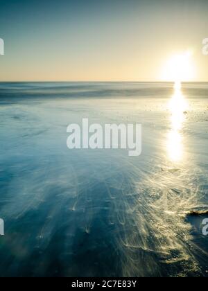
[[175,82],[175,91],[168,108],[171,111],[171,131],[167,137],[168,158],[171,161],[180,162],[184,155],[182,127],[187,114],[188,103],[181,91],[181,83]]

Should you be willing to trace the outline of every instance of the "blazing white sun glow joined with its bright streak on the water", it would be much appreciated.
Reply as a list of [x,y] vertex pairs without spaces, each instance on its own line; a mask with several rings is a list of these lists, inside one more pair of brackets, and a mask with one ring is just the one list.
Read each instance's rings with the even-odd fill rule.
[[171,131],[168,132],[167,150],[171,161],[179,162],[183,157],[182,127],[187,114],[188,104],[182,95],[182,82],[189,82],[195,78],[195,67],[192,60],[193,53],[186,52],[174,55],[164,68],[163,80],[175,82],[175,93],[170,100]]

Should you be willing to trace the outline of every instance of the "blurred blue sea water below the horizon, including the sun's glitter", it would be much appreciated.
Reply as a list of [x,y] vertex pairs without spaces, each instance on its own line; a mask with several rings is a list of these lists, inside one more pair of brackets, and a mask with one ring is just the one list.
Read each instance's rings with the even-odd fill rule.
[[[142,153],[67,126],[141,123]],[[208,83],[0,83],[0,276],[207,276]]]

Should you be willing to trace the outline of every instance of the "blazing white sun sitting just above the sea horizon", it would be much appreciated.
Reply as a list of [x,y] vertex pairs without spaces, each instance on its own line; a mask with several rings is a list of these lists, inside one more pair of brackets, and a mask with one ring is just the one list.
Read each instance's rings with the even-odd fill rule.
[[191,51],[173,55],[164,66],[162,80],[175,84],[194,80],[196,69],[192,57]]

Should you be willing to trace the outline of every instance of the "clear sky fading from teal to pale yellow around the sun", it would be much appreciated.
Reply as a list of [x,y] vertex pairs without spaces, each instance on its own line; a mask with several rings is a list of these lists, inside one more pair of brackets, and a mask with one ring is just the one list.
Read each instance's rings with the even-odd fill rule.
[[0,0],[0,81],[162,81],[186,51],[208,81],[207,15],[207,0]]

